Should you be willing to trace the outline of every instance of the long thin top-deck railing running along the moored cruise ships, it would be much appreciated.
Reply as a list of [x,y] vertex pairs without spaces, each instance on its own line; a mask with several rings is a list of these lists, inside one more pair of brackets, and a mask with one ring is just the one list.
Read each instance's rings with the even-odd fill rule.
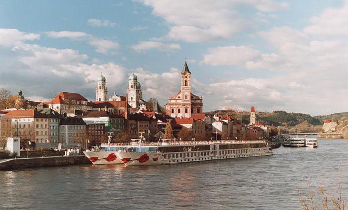
[[238,144],[238,143],[264,143],[263,140],[202,140],[202,141],[171,141],[171,142],[132,142],[132,143],[102,143],[103,146],[184,146],[206,144]]

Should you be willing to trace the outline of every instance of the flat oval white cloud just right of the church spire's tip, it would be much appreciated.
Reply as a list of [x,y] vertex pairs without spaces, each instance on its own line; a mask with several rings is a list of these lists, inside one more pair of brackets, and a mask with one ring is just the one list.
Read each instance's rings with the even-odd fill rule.
[[259,56],[259,52],[246,46],[226,46],[208,49],[202,64],[212,66],[240,66]]

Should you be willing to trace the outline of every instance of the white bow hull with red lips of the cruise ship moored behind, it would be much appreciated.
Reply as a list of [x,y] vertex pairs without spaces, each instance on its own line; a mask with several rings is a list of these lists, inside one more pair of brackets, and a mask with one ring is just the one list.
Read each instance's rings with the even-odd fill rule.
[[93,165],[123,164],[114,151],[84,151],[84,154]]

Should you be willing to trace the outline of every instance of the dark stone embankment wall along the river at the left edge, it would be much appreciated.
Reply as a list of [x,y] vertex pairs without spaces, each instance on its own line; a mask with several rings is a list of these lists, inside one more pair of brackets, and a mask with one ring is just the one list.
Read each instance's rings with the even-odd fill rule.
[[0,170],[91,164],[85,155],[12,158],[0,160]]

